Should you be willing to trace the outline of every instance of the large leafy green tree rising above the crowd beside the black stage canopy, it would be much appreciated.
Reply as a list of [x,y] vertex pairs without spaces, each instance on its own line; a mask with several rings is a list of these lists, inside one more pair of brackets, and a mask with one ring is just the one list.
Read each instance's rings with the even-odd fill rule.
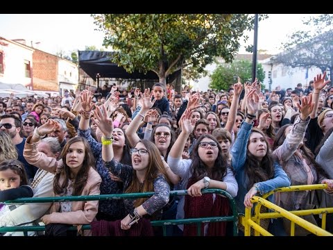
[[[254,16],[245,14],[94,14],[105,33],[103,46],[114,49],[112,61],[127,72],[157,74],[160,83],[183,67],[198,73],[215,56],[230,62]],[[263,15],[263,17],[266,17]],[[248,38],[244,38],[247,40]]]

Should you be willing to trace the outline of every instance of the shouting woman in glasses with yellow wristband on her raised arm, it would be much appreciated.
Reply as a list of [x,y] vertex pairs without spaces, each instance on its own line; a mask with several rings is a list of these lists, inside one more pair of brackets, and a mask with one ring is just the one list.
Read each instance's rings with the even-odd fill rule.
[[[160,151],[153,142],[142,140],[135,144],[134,149],[130,149],[132,155],[132,165],[124,165],[114,160],[112,147],[113,124],[112,119],[106,116],[105,107],[103,113],[97,107],[94,111],[94,122],[103,133],[102,137],[102,158],[105,167],[110,169],[112,174],[119,176],[123,181],[126,193],[132,192],[155,192],[150,198],[125,199],[123,200],[126,213],[121,220],[121,228],[128,230],[136,219],[144,215],[154,215],[160,217],[158,211],[168,203],[170,186],[167,172],[161,160]],[[154,214],[156,213],[157,214]]]

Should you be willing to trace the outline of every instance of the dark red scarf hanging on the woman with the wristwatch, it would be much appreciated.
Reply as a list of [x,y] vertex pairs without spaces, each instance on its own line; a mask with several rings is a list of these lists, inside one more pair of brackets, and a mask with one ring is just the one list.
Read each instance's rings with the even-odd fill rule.
[[[196,183],[194,178],[189,178],[187,189]],[[230,206],[228,198],[216,194],[213,201],[213,194],[203,194],[200,197],[185,196],[184,213],[185,219],[198,217],[218,217],[228,215]],[[201,224],[200,236],[204,235],[205,224]],[[227,222],[211,222],[208,224],[207,236],[225,236]],[[196,236],[196,224],[184,225],[184,236]]]

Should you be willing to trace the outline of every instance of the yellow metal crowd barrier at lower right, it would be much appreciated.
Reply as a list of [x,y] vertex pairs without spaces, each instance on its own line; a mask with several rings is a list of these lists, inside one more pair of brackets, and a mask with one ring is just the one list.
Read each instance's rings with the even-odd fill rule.
[[[259,226],[260,219],[270,219],[270,218],[279,218],[284,217],[291,221],[291,236],[295,235],[295,224],[305,228],[307,231],[314,233],[314,235],[320,236],[333,236],[332,233],[325,231],[326,227],[326,215],[327,213],[333,213],[333,208],[315,208],[309,210],[295,210],[295,211],[287,211],[279,206],[267,201],[266,198],[275,192],[297,192],[297,191],[305,191],[305,190],[323,190],[327,188],[327,184],[316,184],[316,185],[295,185],[285,188],[278,188],[267,194],[264,194],[262,197],[253,197],[251,202],[257,203],[255,206],[255,215],[251,217],[251,209],[246,208],[245,216],[239,217],[239,221],[244,226],[245,231],[244,235],[250,235],[250,228],[253,227],[255,230],[255,236],[259,235],[272,235],[264,228]],[[273,210],[275,212],[271,213],[260,213],[261,206],[266,206],[266,208]],[[302,215],[322,215],[322,228],[307,222],[305,219],[300,218]]]

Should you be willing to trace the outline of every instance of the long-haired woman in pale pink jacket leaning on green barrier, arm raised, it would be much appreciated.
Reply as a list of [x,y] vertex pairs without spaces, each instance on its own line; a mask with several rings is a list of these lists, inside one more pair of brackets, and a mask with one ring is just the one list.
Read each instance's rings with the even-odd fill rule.
[[[59,126],[58,122],[49,119],[35,130],[33,136],[26,140],[24,158],[28,163],[54,174],[53,192],[56,196],[100,194],[101,176],[94,169],[94,156],[85,138],[68,140],[62,149],[61,160],[33,152],[35,143],[44,135],[60,129]],[[99,201],[54,202],[50,214],[42,217],[42,222],[46,224],[45,234],[71,235],[72,232],[67,232],[67,229],[73,225],[78,227],[78,233],[82,233],[82,225],[90,224],[95,219],[98,208]],[[89,234],[89,231],[83,233]]]

